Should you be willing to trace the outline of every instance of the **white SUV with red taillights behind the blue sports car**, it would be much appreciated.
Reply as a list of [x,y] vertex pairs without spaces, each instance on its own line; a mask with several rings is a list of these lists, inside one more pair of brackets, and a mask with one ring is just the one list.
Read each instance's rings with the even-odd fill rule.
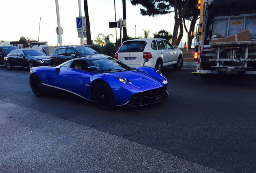
[[118,49],[115,58],[130,67],[150,66],[163,71],[163,68],[173,66],[181,69],[183,66],[183,54],[177,46],[172,46],[163,38],[145,38],[127,40]]

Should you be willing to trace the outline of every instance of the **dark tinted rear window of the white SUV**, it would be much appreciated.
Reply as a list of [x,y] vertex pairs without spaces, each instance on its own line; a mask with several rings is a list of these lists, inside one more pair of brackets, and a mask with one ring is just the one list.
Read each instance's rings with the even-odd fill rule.
[[143,52],[146,44],[145,41],[124,42],[118,52]]

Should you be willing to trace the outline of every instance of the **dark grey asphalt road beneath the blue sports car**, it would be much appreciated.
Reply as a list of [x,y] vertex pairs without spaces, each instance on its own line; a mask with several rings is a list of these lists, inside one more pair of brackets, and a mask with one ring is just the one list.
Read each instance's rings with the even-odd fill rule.
[[162,103],[103,111],[0,67],[0,172],[255,173],[256,78],[193,68],[163,72]]

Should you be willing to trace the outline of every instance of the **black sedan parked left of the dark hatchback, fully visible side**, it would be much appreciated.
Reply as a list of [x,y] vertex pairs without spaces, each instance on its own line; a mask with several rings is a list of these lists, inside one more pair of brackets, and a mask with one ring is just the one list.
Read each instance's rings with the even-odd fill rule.
[[8,70],[13,67],[31,68],[36,66],[49,66],[50,57],[41,50],[32,49],[17,49],[12,50],[4,57],[4,65]]

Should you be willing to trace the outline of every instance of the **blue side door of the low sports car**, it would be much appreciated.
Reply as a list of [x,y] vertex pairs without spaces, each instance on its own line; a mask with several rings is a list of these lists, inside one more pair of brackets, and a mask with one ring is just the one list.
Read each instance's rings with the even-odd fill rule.
[[[75,68],[74,64],[78,66],[85,66],[84,60],[73,61],[70,67],[62,68],[60,70],[60,87],[78,96],[88,98],[89,83],[91,75],[90,72],[79,70]],[[86,65],[88,66],[88,65]]]

